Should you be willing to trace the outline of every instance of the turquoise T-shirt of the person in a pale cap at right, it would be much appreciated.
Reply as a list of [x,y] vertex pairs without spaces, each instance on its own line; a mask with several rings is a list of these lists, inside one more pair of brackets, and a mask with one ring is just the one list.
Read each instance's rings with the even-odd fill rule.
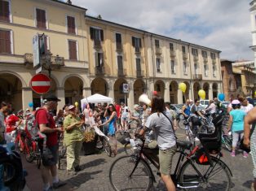
[[233,117],[232,132],[244,131],[244,119],[245,111],[243,110],[232,110],[229,113]]

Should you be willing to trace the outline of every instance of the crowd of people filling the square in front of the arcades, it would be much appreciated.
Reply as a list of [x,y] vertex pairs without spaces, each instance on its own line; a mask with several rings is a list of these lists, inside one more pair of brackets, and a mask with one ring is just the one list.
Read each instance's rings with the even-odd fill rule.
[[[64,133],[64,145],[67,147],[67,167],[68,174],[75,175],[81,171],[80,152],[82,143],[85,141],[85,129],[98,127],[113,143],[112,152],[117,154],[117,132],[130,131],[133,135],[143,135],[148,129],[152,129],[159,148],[159,162],[161,178],[168,190],[174,190],[174,183],[170,178],[171,161],[175,154],[175,130],[177,129],[177,113],[170,109],[170,102],[155,95],[152,98],[151,106],[140,102],[135,104],[132,109],[125,103],[117,104],[91,104],[82,106],[80,111],[77,106],[67,105],[63,110],[55,114],[56,107],[60,99],[55,95],[49,95],[43,100],[41,108],[36,111],[25,112],[20,110],[16,114],[11,109],[11,103],[2,102],[0,109],[0,143],[15,141],[15,129],[25,126],[25,120],[29,115],[35,115],[39,133],[46,135],[46,147],[51,151],[51,157],[42,157],[42,181],[43,190],[50,190],[51,187],[59,188],[66,184],[58,178],[58,134]],[[236,156],[236,145],[243,137],[245,130],[245,145],[249,145],[249,135],[251,124],[255,122],[255,107],[251,98],[231,100],[227,109],[223,109],[221,102],[217,98],[210,100],[209,106],[200,111],[200,100],[187,99],[181,113],[185,119],[191,118],[192,132],[196,136],[201,119],[205,118],[205,113],[214,115],[215,113],[226,113],[229,115],[227,131],[232,131],[232,157]],[[254,113],[253,113],[254,112]],[[171,128],[170,128],[171,127]],[[244,128],[245,127],[245,128]],[[256,133],[256,132],[254,132]],[[253,136],[254,136],[253,133]],[[250,143],[252,146],[252,157],[254,162],[254,177],[256,178],[256,138]],[[253,144],[254,143],[254,144]],[[246,158],[248,154],[244,152]],[[52,186],[50,184],[52,179]],[[252,187],[255,187],[253,184]]]

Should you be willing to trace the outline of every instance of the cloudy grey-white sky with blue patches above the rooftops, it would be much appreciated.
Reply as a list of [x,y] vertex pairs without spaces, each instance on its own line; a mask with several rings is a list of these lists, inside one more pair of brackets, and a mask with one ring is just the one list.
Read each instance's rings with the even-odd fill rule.
[[87,15],[253,60],[251,0],[72,0]]

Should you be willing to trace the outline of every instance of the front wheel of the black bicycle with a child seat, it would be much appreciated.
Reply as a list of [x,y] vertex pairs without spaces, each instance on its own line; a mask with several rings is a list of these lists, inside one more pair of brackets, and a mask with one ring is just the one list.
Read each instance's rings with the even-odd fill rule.
[[[153,175],[148,165],[140,160],[135,168],[133,156],[121,156],[113,162],[109,171],[110,184],[114,190],[149,190],[152,188]],[[130,175],[130,173],[135,171]]]

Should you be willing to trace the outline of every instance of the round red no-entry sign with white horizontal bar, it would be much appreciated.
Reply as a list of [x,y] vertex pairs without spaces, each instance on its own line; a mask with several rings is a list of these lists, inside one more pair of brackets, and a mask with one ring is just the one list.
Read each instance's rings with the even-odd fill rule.
[[44,74],[36,74],[30,80],[30,87],[35,93],[47,93],[51,88],[51,80]]

